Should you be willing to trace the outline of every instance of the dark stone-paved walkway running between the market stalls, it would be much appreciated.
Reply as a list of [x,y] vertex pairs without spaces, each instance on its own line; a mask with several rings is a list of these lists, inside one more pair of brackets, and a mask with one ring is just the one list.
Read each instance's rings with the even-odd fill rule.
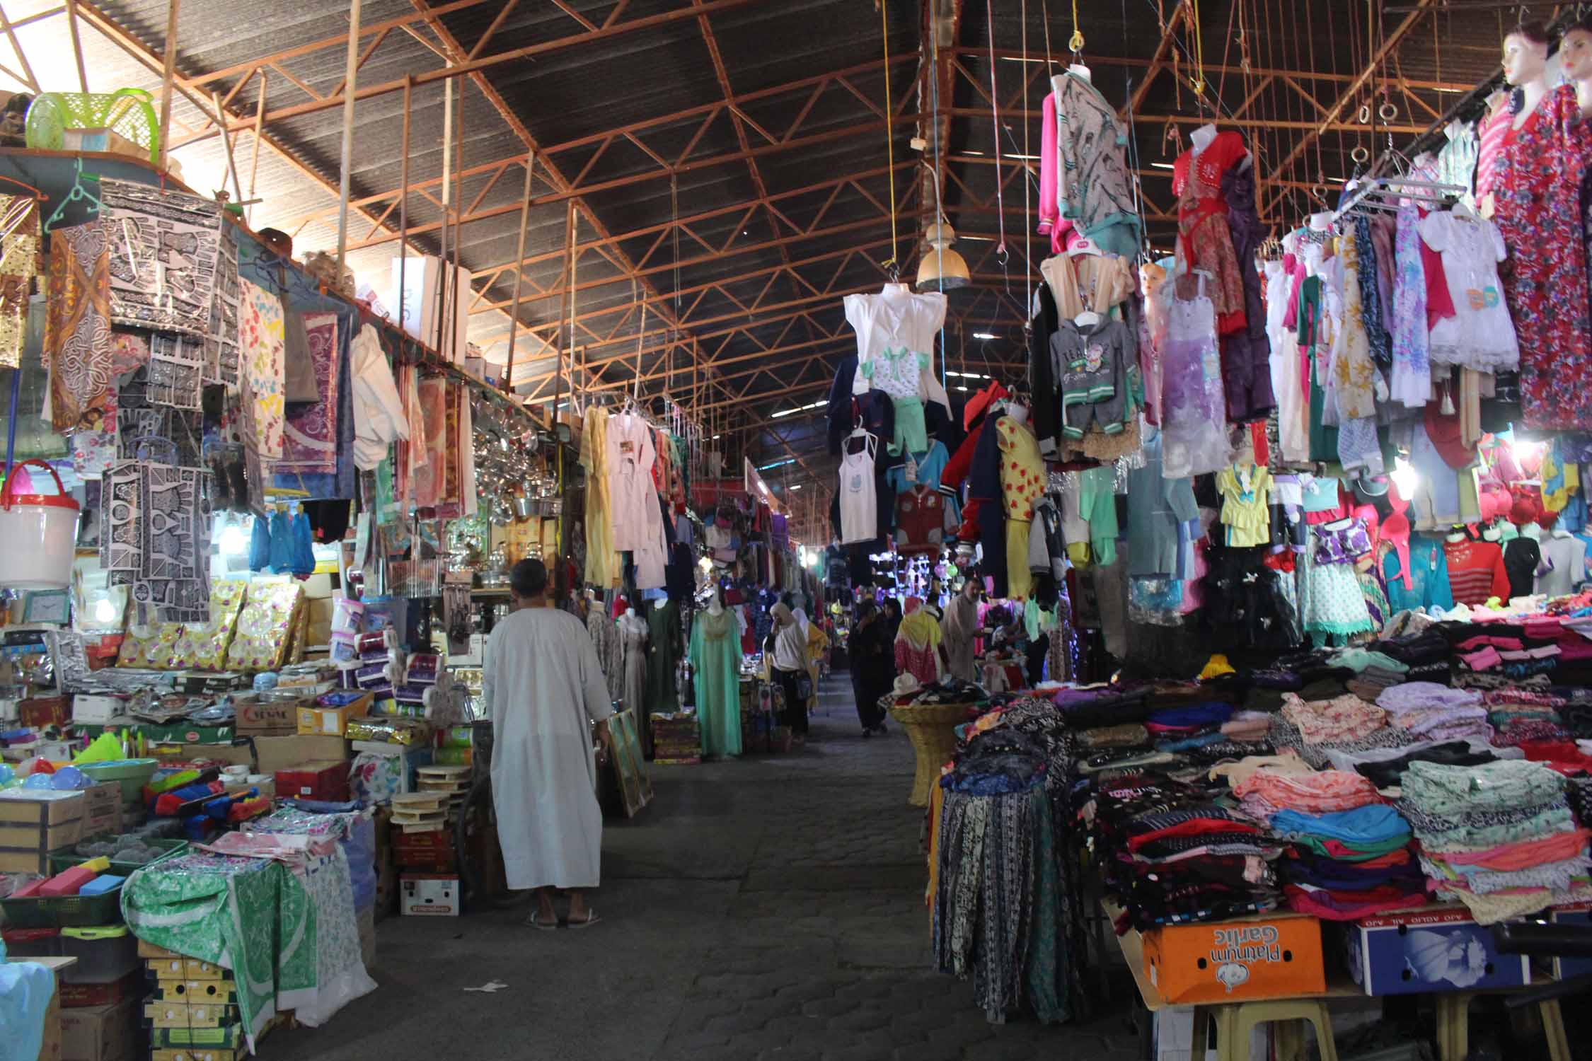
[[[267,1037],[263,1056],[1138,1058],[1126,1004],[1081,1026],[992,1026],[970,985],[931,972],[911,746],[898,729],[860,738],[844,676],[821,703],[804,751],[654,768],[653,805],[603,834],[600,924],[382,921],[380,989],[322,1029]],[[487,980],[508,989],[463,991]]]

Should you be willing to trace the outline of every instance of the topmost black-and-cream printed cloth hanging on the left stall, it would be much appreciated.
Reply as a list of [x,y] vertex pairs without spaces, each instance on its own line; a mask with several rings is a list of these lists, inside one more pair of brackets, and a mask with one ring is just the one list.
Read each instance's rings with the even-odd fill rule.
[[100,180],[110,235],[110,317],[204,339],[221,255],[221,204],[153,185]]

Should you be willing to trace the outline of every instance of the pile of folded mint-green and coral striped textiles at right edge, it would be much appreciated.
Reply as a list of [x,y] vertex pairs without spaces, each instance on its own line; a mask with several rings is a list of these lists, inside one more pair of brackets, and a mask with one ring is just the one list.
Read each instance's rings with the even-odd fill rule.
[[1431,888],[1460,899],[1477,924],[1592,899],[1592,834],[1576,827],[1563,776],[1543,764],[1414,762],[1399,808]]

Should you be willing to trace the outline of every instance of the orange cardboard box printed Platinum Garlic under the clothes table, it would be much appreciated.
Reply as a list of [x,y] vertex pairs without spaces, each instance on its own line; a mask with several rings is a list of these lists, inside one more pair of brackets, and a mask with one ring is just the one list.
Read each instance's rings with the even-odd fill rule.
[[1143,934],[1145,974],[1173,1005],[1237,1002],[1326,989],[1321,923],[1269,913]]

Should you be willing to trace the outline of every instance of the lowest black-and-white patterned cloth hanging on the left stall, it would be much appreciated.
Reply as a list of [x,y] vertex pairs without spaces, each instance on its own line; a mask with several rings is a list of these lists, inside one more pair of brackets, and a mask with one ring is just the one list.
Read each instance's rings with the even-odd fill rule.
[[100,566],[139,622],[210,620],[209,472],[151,461],[105,469]]

